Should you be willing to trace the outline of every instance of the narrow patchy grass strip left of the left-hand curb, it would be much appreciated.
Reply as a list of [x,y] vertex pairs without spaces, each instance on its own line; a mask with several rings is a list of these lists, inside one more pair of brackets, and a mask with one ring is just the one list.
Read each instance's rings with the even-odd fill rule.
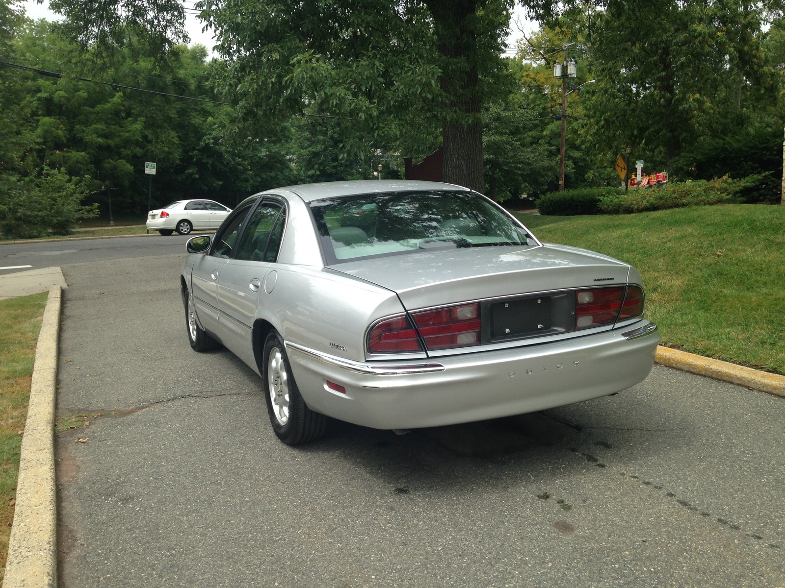
[[27,399],[35,361],[35,343],[46,307],[46,292],[0,300],[0,583],[13,521],[20,431],[27,418]]

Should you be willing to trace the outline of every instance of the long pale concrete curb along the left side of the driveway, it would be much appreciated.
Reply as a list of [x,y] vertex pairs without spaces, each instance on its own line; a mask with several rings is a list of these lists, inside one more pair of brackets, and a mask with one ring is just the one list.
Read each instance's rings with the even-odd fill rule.
[[35,347],[3,588],[57,586],[54,411],[62,292],[60,286],[49,290]]

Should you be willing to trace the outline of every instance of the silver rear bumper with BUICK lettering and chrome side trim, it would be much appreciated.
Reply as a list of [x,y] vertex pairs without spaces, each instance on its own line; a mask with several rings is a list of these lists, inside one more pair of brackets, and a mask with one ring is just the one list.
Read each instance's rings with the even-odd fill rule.
[[[535,412],[625,390],[648,376],[658,343],[656,325],[641,321],[554,343],[383,365],[293,343],[287,343],[287,354],[313,410],[377,429],[413,429]],[[346,394],[329,390],[328,379]]]

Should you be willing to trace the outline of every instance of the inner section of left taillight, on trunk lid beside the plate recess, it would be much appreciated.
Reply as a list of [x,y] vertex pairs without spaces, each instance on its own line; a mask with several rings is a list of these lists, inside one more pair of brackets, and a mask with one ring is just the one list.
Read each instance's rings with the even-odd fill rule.
[[412,316],[428,349],[469,347],[480,343],[479,304],[462,304]]

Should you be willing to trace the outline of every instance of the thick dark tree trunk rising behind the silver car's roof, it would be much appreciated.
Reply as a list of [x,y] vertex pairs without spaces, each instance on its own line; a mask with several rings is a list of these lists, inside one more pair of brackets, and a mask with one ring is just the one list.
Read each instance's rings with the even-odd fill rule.
[[478,0],[426,0],[442,56],[439,78],[446,95],[442,140],[445,182],[485,191],[482,100],[477,67]]

